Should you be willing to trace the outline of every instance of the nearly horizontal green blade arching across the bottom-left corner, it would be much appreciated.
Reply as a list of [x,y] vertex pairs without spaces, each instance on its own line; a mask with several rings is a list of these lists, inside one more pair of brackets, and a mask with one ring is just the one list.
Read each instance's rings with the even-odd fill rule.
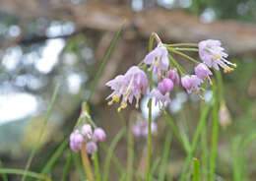
[[45,175],[42,175],[40,173],[35,173],[32,171],[26,171],[23,169],[13,169],[13,168],[1,168],[0,173],[4,174],[12,174],[12,175],[26,175],[32,178],[35,178],[37,180],[44,180],[44,181],[51,181],[51,179]]

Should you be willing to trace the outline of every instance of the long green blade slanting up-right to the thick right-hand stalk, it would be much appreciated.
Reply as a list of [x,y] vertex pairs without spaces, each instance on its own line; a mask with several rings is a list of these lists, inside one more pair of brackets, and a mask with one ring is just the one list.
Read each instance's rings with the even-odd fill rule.
[[185,178],[187,177],[187,170],[188,170],[188,167],[189,167],[189,165],[191,163],[191,159],[193,157],[193,153],[194,153],[194,151],[195,151],[195,149],[197,147],[199,136],[200,136],[200,134],[201,134],[201,132],[202,132],[202,130],[204,128],[204,125],[205,125],[205,122],[206,122],[206,118],[207,118],[208,112],[209,112],[210,107],[211,107],[211,103],[212,103],[212,100],[206,104],[206,106],[204,107],[203,111],[201,112],[200,120],[199,120],[198,126],[196,128],[196,132],[195,132],[193,140],[192,140],[191,149],[190,149],[190,151],[187,154],[187,157],[186,157],[186,160],[185,160],[185,163],[184,163],[184,166],[183,166],[182,173],[181,173],[181,176],[179,178],[179,181],[184,181]]

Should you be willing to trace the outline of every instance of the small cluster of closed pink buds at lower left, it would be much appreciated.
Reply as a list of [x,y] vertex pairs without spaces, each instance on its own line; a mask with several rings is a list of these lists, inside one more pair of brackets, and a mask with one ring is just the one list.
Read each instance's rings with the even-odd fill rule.
[[104,130],[96,128],[94,131],[90,124],[84,124],[81,129],[76,129],[70,135],[70,148],[78,152],[82,149],[83,142],[86,143],[86,151],[93,154],[97,151],[96,142],[104,142],[106,135]]

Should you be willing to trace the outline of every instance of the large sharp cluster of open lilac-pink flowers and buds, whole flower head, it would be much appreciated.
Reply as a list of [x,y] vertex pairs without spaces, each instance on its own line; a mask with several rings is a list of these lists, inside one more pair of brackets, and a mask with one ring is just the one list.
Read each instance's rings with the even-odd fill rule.
[[[144,64],[149,66],[148,71],[152,71],[158,77],[158,86],[150,92],[150,97],[156,100],[156,104],[165,105],[170,102],[170,92],[175,85],[179,84],[179,74],[181,73],[181,85],[188,92],[195,91],[203,100],[201,95],[203,89],[201,84],[208,81],[212,85],[211,76],[213,73],[210,68],[219,70],[220,67],[224,72],[230,72],[236,67],[235,64],[226,60],[227,54],[224,52],[222,43],[219,40],[208,39],[198,43],[199,56],[202,63],[197,63],[194,68],[194,75],[185,75],[177,67],[170,67],[168,58],[168,49],[165,44],[159,42],[159,45],[146,55]],[[170,48],[171,51],[171,48]],[[220,67],[219,67],[220,66]],[[137,66],[131,67],[125,75],[119,75],[115,79],[106,83],[113,92],[107,97],[112,98],[108,104],[119,102],[122,96],[121,105],[118,111],[127,106],[127,102],[132,103],[136,99],[136,108],[139,107],[139,100],[148,88],[148,79],[146,73]]]

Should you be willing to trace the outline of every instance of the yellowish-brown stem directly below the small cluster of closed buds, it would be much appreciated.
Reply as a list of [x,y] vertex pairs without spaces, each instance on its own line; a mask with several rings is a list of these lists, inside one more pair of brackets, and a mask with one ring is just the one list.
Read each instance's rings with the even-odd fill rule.
[[86,151],[86,143],[85,142],[83,142],[83,144],[82,144],[81,156],[82,156],[82,162],[83,162],[84,170],[87,174],[88,180],[89,181],[95,181],[94,174],[93,174],[93,171],[92,171],[92,167],[91,167],[89,157],[88,157],[88,154],[87,154],[87,151]]

